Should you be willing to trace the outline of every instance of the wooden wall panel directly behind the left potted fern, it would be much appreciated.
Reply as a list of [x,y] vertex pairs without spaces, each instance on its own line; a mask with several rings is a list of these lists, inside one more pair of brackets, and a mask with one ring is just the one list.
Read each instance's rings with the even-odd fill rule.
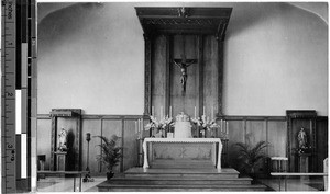
[[[112,135],[123,137],[122,135],[122,121],[121,119],[102,119],[102,136],[111,138]],[[118,146],[121,146],[122,139],[118,141]],[[114,172],[120,172],[121,167],[118,166],[113,169]],[[102,166],[101,172],[106,173],[108,170]]]

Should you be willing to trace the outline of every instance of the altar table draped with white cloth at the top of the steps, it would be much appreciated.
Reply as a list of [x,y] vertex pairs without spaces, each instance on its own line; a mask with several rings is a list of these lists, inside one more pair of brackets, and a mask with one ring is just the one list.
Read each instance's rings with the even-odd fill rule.
[[220,138],[145,138],[143,168],[221,169]]

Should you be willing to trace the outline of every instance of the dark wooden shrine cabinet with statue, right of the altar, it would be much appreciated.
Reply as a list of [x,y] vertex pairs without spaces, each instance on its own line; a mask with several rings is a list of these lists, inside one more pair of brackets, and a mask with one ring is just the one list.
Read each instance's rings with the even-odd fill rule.
[[316,111],[286,111],[286,115],[289,172],[316,172]]

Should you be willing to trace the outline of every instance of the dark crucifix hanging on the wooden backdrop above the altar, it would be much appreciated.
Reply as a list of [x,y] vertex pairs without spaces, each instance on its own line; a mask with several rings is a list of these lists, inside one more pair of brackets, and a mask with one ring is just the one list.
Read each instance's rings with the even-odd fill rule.
[[188,72],[187,68],[191,66],[193,64],[197,62],[197,59],[187,59],[185,55],[185,37],[183,37],[183,54],[182,59],[174,59],[173,62],[180,68],[182,77],[180,77],[180,83],[183,85],[183,93],[186,92],[186,84],[188,79]]

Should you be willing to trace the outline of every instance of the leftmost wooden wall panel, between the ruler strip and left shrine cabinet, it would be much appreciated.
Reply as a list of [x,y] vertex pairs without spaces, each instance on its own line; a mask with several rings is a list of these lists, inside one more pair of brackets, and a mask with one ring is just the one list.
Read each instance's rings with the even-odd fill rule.
[[37,119],[37,128],[36,128],[36,153],[45,155],[45,169],[51,169],[51,139],[52,139],[52,119]]

